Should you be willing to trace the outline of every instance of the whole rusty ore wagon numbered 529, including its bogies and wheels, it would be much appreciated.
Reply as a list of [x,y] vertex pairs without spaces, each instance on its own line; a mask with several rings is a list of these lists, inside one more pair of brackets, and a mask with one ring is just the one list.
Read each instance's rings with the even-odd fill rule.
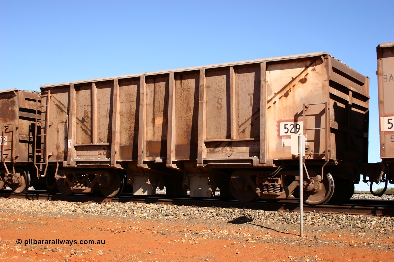
[[37,181],[65,195],[165,187],[172,196],[219,188],[239,201],[286,199],[300,186],[299,133],[310,205],[346,201],[362,170],[376,169],[365,166],[369,78],[325,52],[42,85],[40,94],[30,161],[2,158],[4,173],[32,164],[45,177]]

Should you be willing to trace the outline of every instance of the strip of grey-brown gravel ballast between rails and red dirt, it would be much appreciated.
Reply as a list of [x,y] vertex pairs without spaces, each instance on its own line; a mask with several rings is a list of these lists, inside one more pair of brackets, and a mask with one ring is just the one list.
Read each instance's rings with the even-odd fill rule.
[[[156,205],[145,203],[70,203],[66,201],[39,201],[28,199],[0,198],[1,212],[16,210],[30,214],[81,214],[102,215],[123,218],[156,219],[197,219],[239,221],[261,221],[264,224],[298,224],[298,212],[250,210],[239,208],[186,207],[177,205]],[[333,227],[356,227],[379,229],[382,232],[394,230],[393,217],[358,216],[349,214],[304,213],[304,224]]]

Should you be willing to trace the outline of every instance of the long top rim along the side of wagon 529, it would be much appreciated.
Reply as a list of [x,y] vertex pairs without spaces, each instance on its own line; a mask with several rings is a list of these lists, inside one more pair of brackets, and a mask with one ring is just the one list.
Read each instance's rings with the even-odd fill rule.
[[328,54],[326,52],[314,52],[314,53],[299,54],[299,55],[285,55],[285,56],[279,56],[279,57],[269,57],[269,58],[263,58],[263,59],[245,60],[245,61],[239,61],[239,62],[229,62],[229,63],[204,65],[204,66],[193,66],[193,67],[161,70],[161,71],[154,71],[154,72],[128,74],[128,75],[122,75],[122,76],[100,77],[100,78],[86,79],[86,80],[80,80],[80,81],[54,83],[54,84],[41,85],[40,88],[45,89],[48,87],[59,87],[59,86],[71,85],[71,84],[89,83],[89,82],[95,82],[95,81],[106,81],[106,80],[113,80],[113,79],[123,79],[123,78],[138,77],[138,76],[168,74],[171,72],[183,72],[183,71],[192,71],[192,70],[199,70],[199,69],[210,69],[210,68],[216,68],[216,67],[222,67],[222,66],[238,66],[238,65],[247,65],[247,64],[252,64],[252,63],[275,62],[275,61],[284,61],[284,60],[291,60],[291,59],[303,59],[303,58],[308,58],[308,57],[319,57],[322,55],[330,55],[330,54]]

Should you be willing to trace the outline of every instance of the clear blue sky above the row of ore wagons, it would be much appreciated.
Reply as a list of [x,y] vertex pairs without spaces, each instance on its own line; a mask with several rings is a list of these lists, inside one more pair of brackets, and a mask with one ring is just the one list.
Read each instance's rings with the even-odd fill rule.
[[375,47],[393,17],[384,0],[0,0],[0,89],[324,51],[370,77],[379,162]]

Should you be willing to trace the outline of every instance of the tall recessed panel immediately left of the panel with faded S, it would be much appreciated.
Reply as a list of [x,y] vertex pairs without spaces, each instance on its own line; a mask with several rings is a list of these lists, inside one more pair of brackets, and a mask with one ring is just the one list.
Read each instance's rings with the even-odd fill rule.
[[197,159],[199,72],[175,75],[175,159]]

